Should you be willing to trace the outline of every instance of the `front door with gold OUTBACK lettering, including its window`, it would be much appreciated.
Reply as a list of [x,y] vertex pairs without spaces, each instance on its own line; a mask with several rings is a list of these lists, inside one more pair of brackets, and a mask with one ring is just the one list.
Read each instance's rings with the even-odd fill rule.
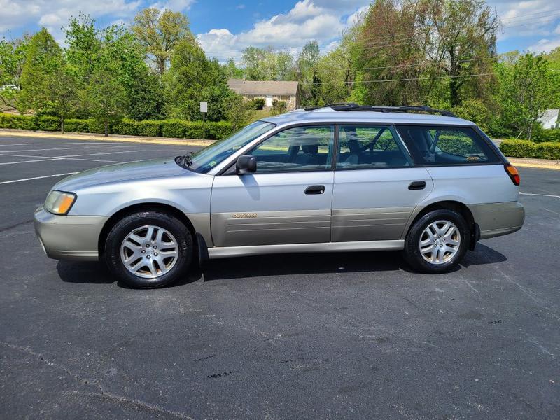
[[216,176],[214,245],[329,242],[334,132],[332,125],[288,128],[250,152],[254,174]]

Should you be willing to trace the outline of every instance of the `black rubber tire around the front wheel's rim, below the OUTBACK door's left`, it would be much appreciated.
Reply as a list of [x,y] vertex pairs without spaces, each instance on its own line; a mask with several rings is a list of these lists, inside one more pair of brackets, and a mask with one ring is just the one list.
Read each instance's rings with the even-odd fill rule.
[[[174,265],[168,272],[155,278],[146,278],[130,272],[120,256],[121,245],[125,237],[145,225],[167,230],[176,239],[178,248]],[[186,275],[193,260],[193,249],[193,235],[178,218],[162,211],[142,211],[125,216],[111,228],[105,241],[104,259],[111,274],[128,286],[158,288],[167,286]]]

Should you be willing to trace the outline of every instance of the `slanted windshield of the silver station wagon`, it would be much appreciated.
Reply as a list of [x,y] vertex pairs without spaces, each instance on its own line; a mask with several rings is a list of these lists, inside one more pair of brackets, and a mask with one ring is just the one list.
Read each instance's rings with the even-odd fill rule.
[[261,134],[271,130],[275,127],[272,123],[265,123],[265,121],[255,121],[255,123],[247,125],[243,130],[235,133],[232,137],[216,141],[202,151],[198,151],[190,156],[191,169],[200,174],[206,174],[210,169],[218,165],[224,159],[229,158],[239,148],[250,143]]

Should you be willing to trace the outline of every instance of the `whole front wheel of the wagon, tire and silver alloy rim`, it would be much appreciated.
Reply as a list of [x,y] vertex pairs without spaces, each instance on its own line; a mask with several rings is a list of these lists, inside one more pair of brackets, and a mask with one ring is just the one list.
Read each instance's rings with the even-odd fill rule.
[[130,214],[109,232],[104,258],[111,273],[128,286],[167,286],[186,274],[193,260],[193,237],[170,214]]

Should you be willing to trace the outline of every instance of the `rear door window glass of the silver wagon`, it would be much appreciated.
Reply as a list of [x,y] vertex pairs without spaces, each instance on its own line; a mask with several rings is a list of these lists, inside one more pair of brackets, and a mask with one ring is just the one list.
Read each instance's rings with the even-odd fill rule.
[[407,167],[409,157],[391,127],[341,125],[337,169]]

